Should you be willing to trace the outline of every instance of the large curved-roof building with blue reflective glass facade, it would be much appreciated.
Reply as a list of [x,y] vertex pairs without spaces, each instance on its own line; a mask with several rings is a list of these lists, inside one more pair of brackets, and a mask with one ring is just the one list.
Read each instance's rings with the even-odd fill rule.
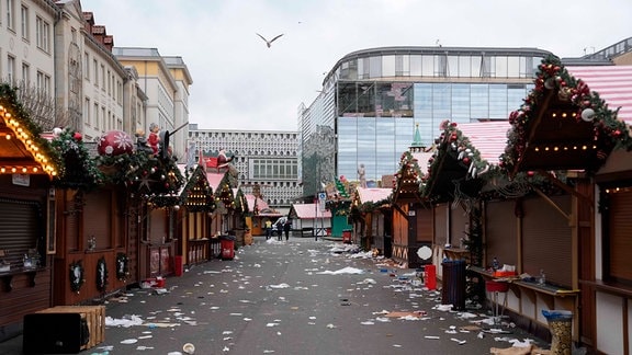
[[444,119],[507,119],[551,53],[534,48],[387,47],[351,53],[298,111],[304,195],[334,176],[393,174],[419,127],[431,147]]

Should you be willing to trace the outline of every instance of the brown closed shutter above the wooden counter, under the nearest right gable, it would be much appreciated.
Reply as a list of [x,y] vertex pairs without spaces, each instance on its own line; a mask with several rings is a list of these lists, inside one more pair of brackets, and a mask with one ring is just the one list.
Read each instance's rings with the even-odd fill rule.
[[[571,213],[571,196],[550,197],[563,210]],[[572,240],[568,220],[542,198],[523,202],[522,256],[523,272],[561,286],[572,285]]]

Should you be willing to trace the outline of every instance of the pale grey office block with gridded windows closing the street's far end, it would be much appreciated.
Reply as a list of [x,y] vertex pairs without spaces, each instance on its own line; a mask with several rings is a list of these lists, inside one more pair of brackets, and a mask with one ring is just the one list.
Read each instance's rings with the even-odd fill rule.
[[199,129],[191,124],[189,145],[204,157],[216,157],[219,150],[234,156],[232,164],[244,193],[258,186],[262,198],[280,213],[287,213],[301,197],[297,131]]

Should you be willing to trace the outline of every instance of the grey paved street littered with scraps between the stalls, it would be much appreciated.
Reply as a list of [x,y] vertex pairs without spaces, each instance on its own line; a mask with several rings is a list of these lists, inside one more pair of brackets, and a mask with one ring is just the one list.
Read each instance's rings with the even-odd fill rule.
[[[418,286],[414,270],[335,247],[345,244],[256,237],[233,261],[167,278],[161,295],[129,290],[106,305],[109,324],[127,327],[109,325],[82,354],[183,354],[185,343],[195,354],[489,354],[531,337],[484,333],[498,328],[481,322],[485,310],[441,310],[440,293]],[[21,347],[18,337],[0,354]]]

